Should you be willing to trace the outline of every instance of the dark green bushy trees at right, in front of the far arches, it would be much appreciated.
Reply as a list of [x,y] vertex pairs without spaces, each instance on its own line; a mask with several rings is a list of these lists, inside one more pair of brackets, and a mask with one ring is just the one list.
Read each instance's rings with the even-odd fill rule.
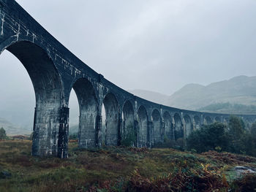
[[231,116],[228,126],[223,123],[203,126],[189,135],[187,149],[197,153],[217,150],[256,156],[256,123],[246,129],[241,118]]

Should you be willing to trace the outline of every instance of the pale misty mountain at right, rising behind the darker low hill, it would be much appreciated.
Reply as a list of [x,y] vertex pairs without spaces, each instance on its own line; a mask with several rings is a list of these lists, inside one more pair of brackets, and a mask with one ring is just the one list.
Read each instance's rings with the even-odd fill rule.
[[256,77],[238,76],[210,85],[188,84],[167,99],[166,104],[197,110],[209,104],[256,105]]

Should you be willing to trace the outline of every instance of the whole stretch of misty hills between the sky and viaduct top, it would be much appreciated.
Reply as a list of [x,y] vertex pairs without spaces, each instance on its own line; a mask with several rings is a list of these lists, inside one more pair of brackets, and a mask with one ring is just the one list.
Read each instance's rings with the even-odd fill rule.
[[256,112],[253,107],[256,105],[256,77],[238,76],[206,86],[187,84],[171,96],[154,92],[151,94],[151,91],[142,90],[131,91],[131,93],[137,93],[137,96],[160,104],[187,110],[227,113]]

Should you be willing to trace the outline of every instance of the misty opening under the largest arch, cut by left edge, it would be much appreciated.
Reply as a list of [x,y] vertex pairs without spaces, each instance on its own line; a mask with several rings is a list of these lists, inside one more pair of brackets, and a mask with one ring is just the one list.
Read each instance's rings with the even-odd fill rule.
[[31,134],[34,87],[23,64],[7,50],[0,56],[0,78],[0,128],[5,129],[7,136]]

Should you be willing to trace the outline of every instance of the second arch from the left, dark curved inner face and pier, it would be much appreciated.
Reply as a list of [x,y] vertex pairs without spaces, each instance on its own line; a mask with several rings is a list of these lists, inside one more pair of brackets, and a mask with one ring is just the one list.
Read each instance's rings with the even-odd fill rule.
[[97,146],[98,101],[94,87],[86,78],[79,78],[72,85],[79,104],[78,146]]

